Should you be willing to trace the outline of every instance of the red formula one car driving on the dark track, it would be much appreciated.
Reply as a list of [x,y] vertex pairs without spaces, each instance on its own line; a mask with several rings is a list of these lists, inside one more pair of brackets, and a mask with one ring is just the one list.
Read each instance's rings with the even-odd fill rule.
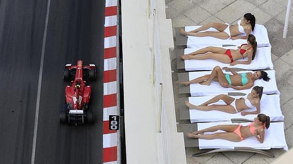
[[83,65],[83,60],[77,60],[77,65],[66,64],[63,79],[71,81],[65,87],[65,111],[60,112],[60,123],[93,123],[94,113],[89,109],[91,85],[86,85],[85,79],[96,79],[96,65]]

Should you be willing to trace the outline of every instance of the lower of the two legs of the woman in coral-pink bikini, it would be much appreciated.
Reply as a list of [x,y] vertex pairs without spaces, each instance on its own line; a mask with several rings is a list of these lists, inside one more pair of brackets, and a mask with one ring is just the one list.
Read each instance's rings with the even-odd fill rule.
[[224,139],[224,140],[228,140],[228,141],[232,141],[232,142],[240,142],[241,141],[239,136],[233,132],[215,133],[212,135],[194,135],[191,133],[187,133],[187,136],[190,138],[205,139],[205,140]]

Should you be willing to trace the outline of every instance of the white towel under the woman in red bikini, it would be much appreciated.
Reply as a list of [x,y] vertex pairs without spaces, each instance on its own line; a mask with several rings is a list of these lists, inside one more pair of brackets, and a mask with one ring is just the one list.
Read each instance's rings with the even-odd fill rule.
[[[217,47],[221,47],[221,46],[217,46]],[[222,47],[222,48],[237,49],[236,46]],[[184,54],[189,54],[199,49],[201,48],[185,48]],[[247,61],[247,57],[245,57],[244,59],[243,58],[238,59],[237,61]],[[185,63],[186,71],[212,70],[217,65],[219,65],[221,68],[229,67],[229,68],[240,68],[245,70],[260,70],[260,69],[267,69],[267,68],[270,68],[271,70],[274,69],[274,65],[273,65],[272,57],[271,57],[271,47],[257,48],[254,60],[252,60],[250,64],[237,64],[234,66],[230,66],[230,64],[225,64],[214,59],[205,59],[205,60],[190,59],[190,60],[184,60],[184,63]]]

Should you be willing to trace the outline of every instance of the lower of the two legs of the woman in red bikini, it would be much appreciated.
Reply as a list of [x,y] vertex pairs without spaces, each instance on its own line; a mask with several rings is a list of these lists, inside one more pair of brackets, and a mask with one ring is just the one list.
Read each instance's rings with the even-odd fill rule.
[[182,59],[198,59],[198,60],[205,60],[205,59],[214,59],[226,64],[231,63],[231,59],[228,55],[226,54],[221,54],[221,53],[206,53],[202,55],[183,55],[181,56]]

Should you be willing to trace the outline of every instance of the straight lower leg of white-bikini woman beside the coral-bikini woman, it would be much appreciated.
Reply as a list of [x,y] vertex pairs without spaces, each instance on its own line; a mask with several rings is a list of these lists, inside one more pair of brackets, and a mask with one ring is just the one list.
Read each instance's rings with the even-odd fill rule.
[[185,105],[189,107],[189,109],[197,109],[200,111],[221,111],[226,113],[236,113],[235,108],[231,105],[211,105],[211,106],[195,106],[190,104],[188,101],[185,101]]

